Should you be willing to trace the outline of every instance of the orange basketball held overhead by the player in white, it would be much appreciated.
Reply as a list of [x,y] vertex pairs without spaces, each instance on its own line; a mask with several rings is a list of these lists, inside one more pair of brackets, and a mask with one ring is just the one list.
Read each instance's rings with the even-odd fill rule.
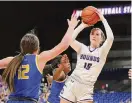
[[97,11],[97,8],[93,6],[88,6],[84,8],[81,14],[82,21],[88,25],[96,24],[100,20],[96,11]]

